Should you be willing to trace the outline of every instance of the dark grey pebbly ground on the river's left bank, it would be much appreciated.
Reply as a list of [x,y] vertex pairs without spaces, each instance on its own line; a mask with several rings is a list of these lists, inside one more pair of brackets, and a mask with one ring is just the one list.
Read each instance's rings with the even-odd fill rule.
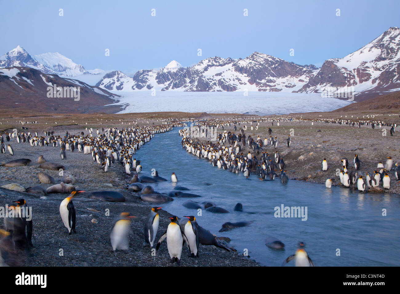
[[[56,135],[64,136],[67,129],[70,134],[77,134],[85,128],[55,128]],[[53,128],[54,130],[54,128]],[[156,135],[157,136],[157,135]],[[7,143],[7,142],[5,142]],[[148,247],[142,246],[143,225],[150,205],[138,198],[138,194],[128,192],[126,186],[130,176],[126,175],[123,166],[112,164],[108,172],[102,173],[100,165],[92,161],[91,154],[66,150],[66,159],[59,157],[60,148],[53,146],[32,147],[28,142],[18,144],[16,139],[10,142],[14,149],[14,156],[0,154],[0,163],[18,158],[29,158],[32,162],[28,166],[4,167],[0,166],[0,186],[18,183],[24,188],[42,186],[48,188],[51,184],[40,184],[37,173],[45,172],[53,176],[56,183],[61,181],[58,171],[38,168],[36,160],[43,155],[48,162],[58,162],[65,166],[65,173],[76,178],[76,189],[86,192],[79,193],[73,200],[76,209],[77,234],[68,235],[68,230],[62,223],[59,207],[61,201],[68,194],[52,193],[47,196],[16,192],[0,188],[0,206],[11,205],[13,201],[24,198],[28,206],[32,207],[34,248],[25,254],[19,252],[18,262],[24,266],[169,266],[170,257],[166,242],[152,256]],[[146,144],[152,144],[150,142]],[[136,153],[138,159],[140,152]],[[144,162],[142,164],[145,164]],[[161,175],[162,176],[162,175]],[[124,194],[125,202],[105,202],[89,199],[91,192],[99,190],[116,190]],[[108,214],[109,215],[106,215]],[[121,212],[130,212],[136,216],[131,223],[130,246],[127,252],[111,250],[109,236],[114,224],[114,218]],[[156,240],[165,232],[170,214],[160,210],[160,225]],[[0,219],[0,228],[4,228],[3,219]],[[201,224],[200,224],[201,225]],[[229,241],[229,240],[228,240]],[[222,244],[229,247],[225,240]],[[242,256],[231,248],[230,252],[215,246],[200,246],[200,258],[187,257],[188,249],[185,245],[182,251],[181,266],[258,266],[248,256]],[[154,254],[154,253],[153,253]]]

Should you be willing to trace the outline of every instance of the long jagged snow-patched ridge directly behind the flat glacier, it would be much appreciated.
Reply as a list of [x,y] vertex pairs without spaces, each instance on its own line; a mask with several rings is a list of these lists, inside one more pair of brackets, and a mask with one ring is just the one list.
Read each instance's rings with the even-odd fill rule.
[[176,90],[186,92],[300,90],[318,71],[267,54],[232,58],[210,57],[184,68],[175,60],[160,70],[139,70],[130,78],[120,71],[106,74],[97,84],[107,90]]

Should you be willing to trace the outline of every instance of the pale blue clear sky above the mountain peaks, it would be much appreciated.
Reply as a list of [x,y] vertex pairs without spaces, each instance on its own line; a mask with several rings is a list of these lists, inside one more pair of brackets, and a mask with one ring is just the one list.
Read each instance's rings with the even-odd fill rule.
[[321,66],[400,26],[398,0],[0,0],[0,8],[0,55],[20,45],[31,55],[60,52],[86,69],[128,74],[171,60],[191,66],[210,56],[245,58],[254,51]]

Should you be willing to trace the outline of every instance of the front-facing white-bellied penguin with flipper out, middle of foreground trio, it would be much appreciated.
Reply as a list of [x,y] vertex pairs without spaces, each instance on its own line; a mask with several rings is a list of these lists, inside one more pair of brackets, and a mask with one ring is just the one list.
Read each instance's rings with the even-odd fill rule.
[[160,244],[164,239],[167,239],[168,253],[171,257],[171,263],[180,264],[180,256],[182,255],[183,237],[178,224],[178,218],[176,216],[170,217],[171,222],[164,234],[162,234],[160,240],[157,242],[156,250],[160,248]]

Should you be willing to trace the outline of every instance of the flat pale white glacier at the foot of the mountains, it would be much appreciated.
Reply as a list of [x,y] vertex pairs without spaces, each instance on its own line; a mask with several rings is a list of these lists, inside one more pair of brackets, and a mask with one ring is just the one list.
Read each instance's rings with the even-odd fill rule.
[[[352,102],[336,98],[322,98],[321,94],[274,92],[174,92],[151,91],[121,92],[118,104],[129,104],[128,112],[208,112],[245,114],[288,114],[298,112],[325,112]],[[154,94],[153,94],[154,95]]]

